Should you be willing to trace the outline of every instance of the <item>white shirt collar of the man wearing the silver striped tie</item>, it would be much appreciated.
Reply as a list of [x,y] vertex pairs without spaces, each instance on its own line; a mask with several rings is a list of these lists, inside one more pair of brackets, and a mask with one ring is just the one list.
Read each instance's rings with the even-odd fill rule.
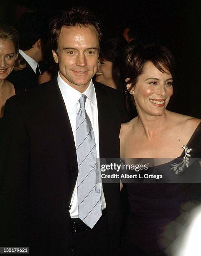
[[57,81],[59,84],[59,89],[61,91],[62,97],[64,98],[64,102],[68,102],[66,104],[67,111],[71,111],[76,103],[79,101],[79,98],[82,94],[85,94],[87,98],[90,100],[91,104],[95,106],[96,103],[96,94],[95,94],[95,88],[92,80],[89,83],[89,86],[87,87],[87,90],[83,93],[79,92],[78,90],[71,87],[69,84],[64,82],[64,80],[61,78],[59,72],[57,76]]

